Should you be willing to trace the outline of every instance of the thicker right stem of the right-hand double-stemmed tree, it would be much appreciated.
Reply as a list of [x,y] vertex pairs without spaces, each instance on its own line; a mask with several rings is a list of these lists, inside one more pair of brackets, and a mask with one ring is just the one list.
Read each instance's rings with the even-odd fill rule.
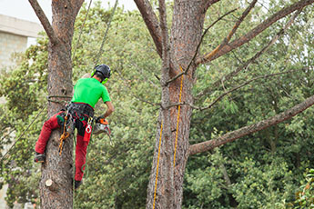
[[[177,63],[183,69],[187,69],[187,65],[195,55],[198,43],[202,35],[206,10],[202,1],[176,1],[174,7],[173,25],[171,30],[171,49],[172,62]],[[184,31],[184,33],[183,33]],[[179,72],[180,70],[177,69]],[[183,76],[183,88],[181,102],[185,104],[193,104],[192,87],[195,84],[196,65],[191,65],[187,71],[187,75]],[[179,102],[180,81],[182,77],[170,84],[170,101],[171,104]],[[176,163],[175,163],[175,190],[176,190],[176,208],[181,208],[183,196],[183,180],[184,172],[188,157],[188,139],[189,127],[192,109],[190,105],[180,106],[179,121],[177,124],[178,107],[171,108],[171,130],[172,142],[176,147]],[[176,136],[177,134],[177,136]]]

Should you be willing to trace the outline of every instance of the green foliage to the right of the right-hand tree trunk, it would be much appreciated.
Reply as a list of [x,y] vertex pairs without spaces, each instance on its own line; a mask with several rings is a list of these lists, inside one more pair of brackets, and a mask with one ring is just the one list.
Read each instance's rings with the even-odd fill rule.
[[[215,17],[218,18],[236,5],[230,7],[222,2],[212,6],[205,25],[210,25]],[[268,13],[263,14],[263,6],[258,5],[251,13],[252,19],[241,25],[238,34],[245,34],[249,28],[278,10],[278,4],[272,2]],[[267,53],[232,79],[222,80],[217,87],[211,87],[208,94],[203,96],[199,96],[199,93],[236,70],[267,45],[289,17],[269,27],[249,45],[239,47],[210,65],[198,67],[198,77],[202,78],[198,79],[194,88],[195,104],[198,106],[208,106],[229,89],[260,75],[287,73],[255,80],[228,94],[208,110],[194,111],[190,130],[191,144],[257,123],[313,95],[313,83],[309,82],[313,79],[313,55],[307,50],[312,36],[312,28],[309,26],[312,23],[308,19],[312,15],[312,6],[309,6]],[[210,52],[216,47],[228,34],[228,30],[221,28],[232,28],[233,22],[222,21],[220,24],[215,25],[206,35],[202,51]],[[314,160],[311,150],[312,118],[313,109],[309,108],[283,124],[225,144],[214,153],[190,157],[185,174],[184,208],[288,207],[295,200],[294,194],[302,174]],[[230,183],[224,172],[227,172]]]

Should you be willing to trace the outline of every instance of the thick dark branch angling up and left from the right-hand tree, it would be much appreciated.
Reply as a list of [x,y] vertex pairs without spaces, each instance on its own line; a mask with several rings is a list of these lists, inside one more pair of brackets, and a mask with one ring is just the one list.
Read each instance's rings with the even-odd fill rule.
[[137,4],[137,8],[141,13],[144,22],[147,25],[148,31],[154,40],[157,48],[157,54],[161,57],[161,29],[158,24],[157,15],[154,13],[153,8],[147,0],[134,0],[134,2]]

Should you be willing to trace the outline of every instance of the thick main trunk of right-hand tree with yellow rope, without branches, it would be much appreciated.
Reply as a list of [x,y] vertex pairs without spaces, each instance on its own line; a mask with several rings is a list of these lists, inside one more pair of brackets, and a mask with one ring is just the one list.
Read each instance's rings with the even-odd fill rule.
[[[173,15],[176,18],[173,18],[171,30],[170,62],[177,64],[177,69],[174,69],[174,71],[170,73],[168,72],[168,77],[170,78],[174,77],[176,73],[181,73],[180,66],[183,69],[187,69],[187,65],[189,64],[193,55],[195,55],[204,24],[205,10],[203,7],[204,5],[201,1],[175,2]],[[184,33],[182,33],[182,30],[184,30]],[[170,95],[170,107],[165,106],[167,103],[165,103],[166,98],[165,94],[163,94],[162,106],[164,109],[161,110],[160,115],[162,115],[163,119],[166,116],[169,116],[170,123],[163,123],[162,134],[168,133],[168,131],[165,130],[170,128],[170,137],[165,137],[164,135],[160,137],[161,122],[159,121],[160,123],[159,127],[157,128],[154,161],[147,190],[147,208],[149,209],[181,208],[183,195],[183,177],[188,157],[188,136],[192,109],[189,105],[181,105],[178,107],[178,105],[172,104],[179,103],[181,79],[183,79],[181,102],[186,104],[193,104],[191,89],[195,81],[195,69],[196,65],[191,65],[187,75],[181,76],[177,78],[177,80],[171,82],[169,85],[163,86],[163,91],[166,91],[165,89],[168,88],[168,94]],[[163,82],[161,83],[163,84]],[[177,124],[178,110],[180,112],[179,121]],[[174,158],[176,160],[176,164],[173,162]],[[169,170],[173,170],[171,174],[172,176],[166,177],[166,174]],[[165,189],[168,187],[167,183],[171,182],[171,179],[174,181],[175,191],[173,194],[169,193],[171,194],[171,196],[169,196],[165,195],[167,193]],[[171,199],[173,204],[165,204],[167,199]],[[167,207],[163,207],[163,205],[167,205]]]

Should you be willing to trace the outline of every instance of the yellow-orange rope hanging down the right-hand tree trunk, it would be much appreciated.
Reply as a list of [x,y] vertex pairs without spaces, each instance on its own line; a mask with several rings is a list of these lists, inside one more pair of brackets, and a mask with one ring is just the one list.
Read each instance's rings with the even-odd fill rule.
[[[183,72],[182,67],[180,66],[181,72]],[[181,110],[181,96],[182,96],[182,88],[183,88],[183,78],[184,75],[181,75],[181,84],[180,84],[180,94],[179,94],[179,105],[177,107],[177,130],[176,130],[176,143],[175,143],[175,150],[174,150],[174,161],[173,165],[176,166],[176,153],[177,153],[177,134],[178,134],[178,123],[180,119],[180,110]],[[161,121],[160,125],[160,137],[159,137],[159,146],[158,146],[158,156],[157,156],[157,168],[156,168],[156,179],[155,179],[155,191],[154,191],[154,202],[153,202],[153,209],[155,209],[155,202],[156,202],[156,194],[157,194],[157,181],[158,181],[158,168],[159,168],[159,158],[160,158],[160,147],[161,147],[161,139],[162,139],[162,130],[163,130],[163,122]]]

